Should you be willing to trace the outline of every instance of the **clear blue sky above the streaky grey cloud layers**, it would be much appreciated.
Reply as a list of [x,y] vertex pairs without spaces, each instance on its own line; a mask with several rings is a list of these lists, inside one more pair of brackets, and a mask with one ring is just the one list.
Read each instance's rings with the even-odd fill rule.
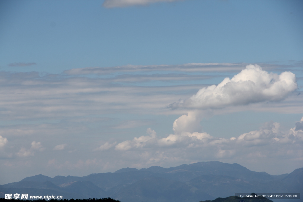
[[[6,71],[301,60],[301,1],[2,1]],[[14,62],[35,62],[27,68]],[[25,70],[26,69],[26,70]]]

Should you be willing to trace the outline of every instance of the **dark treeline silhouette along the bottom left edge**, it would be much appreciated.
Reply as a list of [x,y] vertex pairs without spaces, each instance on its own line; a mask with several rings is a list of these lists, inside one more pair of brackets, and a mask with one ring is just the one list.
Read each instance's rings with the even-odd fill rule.
[[[15,200],[15,199],[11,199],[11,200],[7,200],[7,199],[4,199],[4,198],[0,198],[0,202],[9,202],[9,201],[25,201],[25,200]],[[37,199],[37,200],[26,200],[26,202],[122,202],[122,201],[119,201],[119,200],[115,200],[115,199],[112,199],[110,197],[108,198],[100,198],[100,199],[95,199],[95,198],[90,198],[90,199],[50,199],[50,200],[45,200],[45,199]]]

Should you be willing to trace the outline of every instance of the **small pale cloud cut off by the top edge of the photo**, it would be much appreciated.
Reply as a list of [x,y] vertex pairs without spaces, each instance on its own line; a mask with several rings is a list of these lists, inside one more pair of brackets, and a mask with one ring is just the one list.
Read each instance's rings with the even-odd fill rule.
[[175,2],[180,0],[105,0],[103,6],[106,8],[127,7],[133,5],[147,5],[156,2]]

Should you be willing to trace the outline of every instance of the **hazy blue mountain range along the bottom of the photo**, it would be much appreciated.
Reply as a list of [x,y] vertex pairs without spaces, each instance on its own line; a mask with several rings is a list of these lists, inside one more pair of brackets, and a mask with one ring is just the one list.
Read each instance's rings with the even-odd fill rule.
[[198,202],[253,192],[303,193],[303,168],[290,174],[270,175],[239,164],[208,161],[170,168],[122,168],[115,173],[83,177],[51,178],[39,174],[0,185],[0,197],[8,193],[53,194],[66,199],[111,197],[122,202]]

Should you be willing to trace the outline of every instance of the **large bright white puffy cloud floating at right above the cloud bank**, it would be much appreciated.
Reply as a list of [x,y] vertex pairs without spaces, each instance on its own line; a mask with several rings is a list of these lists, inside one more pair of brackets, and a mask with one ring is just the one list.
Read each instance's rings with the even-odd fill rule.
[[298,88],[295,74],[268,73],[258,65],[247,65],[233,78],[225,78],[218,85],[200,89],[191,98],[173,103],[171,108],[223,108],[263,101],[280,101]]

